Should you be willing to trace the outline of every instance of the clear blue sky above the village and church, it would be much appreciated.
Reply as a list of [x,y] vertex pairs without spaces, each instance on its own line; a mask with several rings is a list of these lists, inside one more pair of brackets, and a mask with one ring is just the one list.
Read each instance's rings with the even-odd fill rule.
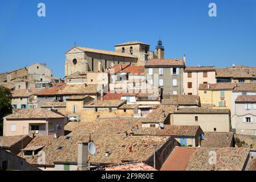
[[[46,17],[37,5],[46,5]],[[217,17],[208,16],[210,2]],[[1,0],[0,72],[46,63],[64,77],[65,52],[74,46],[114,50],[141,41],[165,57],[187,56],[188,65],[256,67],[255,0],[60,1]]]

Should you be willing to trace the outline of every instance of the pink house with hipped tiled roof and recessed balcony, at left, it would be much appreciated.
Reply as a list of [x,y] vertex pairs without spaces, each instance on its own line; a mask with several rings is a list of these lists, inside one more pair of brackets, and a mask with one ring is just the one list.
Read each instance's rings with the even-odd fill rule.
[[64,115],[47,109],[22,109],[3,118],[3,136],[64,135]]

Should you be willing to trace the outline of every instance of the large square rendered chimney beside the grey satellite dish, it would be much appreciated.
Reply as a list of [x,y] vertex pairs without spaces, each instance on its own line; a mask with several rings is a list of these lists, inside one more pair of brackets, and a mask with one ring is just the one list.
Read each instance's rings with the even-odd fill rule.
[[78,171],[88,171],[88,143],[78,143]]

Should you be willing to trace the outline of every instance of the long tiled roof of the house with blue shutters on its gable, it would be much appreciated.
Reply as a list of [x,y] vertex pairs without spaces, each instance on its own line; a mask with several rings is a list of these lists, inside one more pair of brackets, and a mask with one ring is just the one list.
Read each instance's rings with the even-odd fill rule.
[[158,135],[170,137],[195,137],[200,126],[178,126],[178,125],[165,125],[164,129],[159,128],[141,128],[135,130],[135,135]]

